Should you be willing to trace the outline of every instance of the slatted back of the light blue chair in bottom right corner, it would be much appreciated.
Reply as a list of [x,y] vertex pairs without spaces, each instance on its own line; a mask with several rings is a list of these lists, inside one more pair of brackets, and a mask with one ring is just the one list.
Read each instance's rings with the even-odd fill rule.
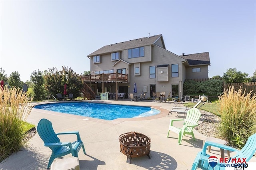
[[244,147],[237,152],[232,158],[246,158],[246,162],[249,161],[256,152],[256,133],[250,136],[244,145]]

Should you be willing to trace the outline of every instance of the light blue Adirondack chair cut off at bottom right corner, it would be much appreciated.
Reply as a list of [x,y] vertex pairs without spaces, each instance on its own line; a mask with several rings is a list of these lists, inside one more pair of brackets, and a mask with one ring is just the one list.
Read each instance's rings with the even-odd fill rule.
[[226,146],[224,144],[218,144],[215,142],[206,141],[202,148],[201,152],[198,152],[196,159],[192,165],[192,170],[196,170],[196,168],[201,168],[203,170],[225,170],[225,167],[221,167],[220,163],[218,163],[214,168],[208,164],[208,158],[210,157],[209,154],[206,154],[207,146],[214,146],[217,148],[221,148],[224,150],[230,150],[232,152],[236,152],[232,158],[246,158],[246,162],[249,161],[256,151],[256,133],[250,136],[241,150],[237,150],[236,148],[232,148],[230,146]]

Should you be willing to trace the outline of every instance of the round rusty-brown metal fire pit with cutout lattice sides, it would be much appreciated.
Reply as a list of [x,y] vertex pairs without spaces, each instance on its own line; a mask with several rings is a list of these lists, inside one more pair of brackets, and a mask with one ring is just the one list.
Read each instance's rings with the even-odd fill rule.
[[131,163],[132,158],[150,155],[151,139],[138,132],[128,132],[119,136],[120,152],[127,155],[127,163]]

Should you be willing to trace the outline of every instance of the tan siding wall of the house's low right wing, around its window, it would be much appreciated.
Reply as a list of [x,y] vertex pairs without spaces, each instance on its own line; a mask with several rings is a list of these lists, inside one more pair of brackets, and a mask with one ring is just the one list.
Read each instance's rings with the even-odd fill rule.
[[[200,72],[192,72],[192,68],[200,68]],[[198,65],[186,67],[186,79],[206,79],[208,78],[208,65]]]

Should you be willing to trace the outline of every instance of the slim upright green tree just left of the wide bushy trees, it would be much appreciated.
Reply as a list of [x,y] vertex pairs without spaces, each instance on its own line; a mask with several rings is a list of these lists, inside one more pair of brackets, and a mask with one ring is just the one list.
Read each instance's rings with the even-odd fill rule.
[[32,89],[34,91],[34,100],[45,99],[46,93],[44,89],[44,77],[42,71],[34,71],[30,75],[30,81],[32,82]]

